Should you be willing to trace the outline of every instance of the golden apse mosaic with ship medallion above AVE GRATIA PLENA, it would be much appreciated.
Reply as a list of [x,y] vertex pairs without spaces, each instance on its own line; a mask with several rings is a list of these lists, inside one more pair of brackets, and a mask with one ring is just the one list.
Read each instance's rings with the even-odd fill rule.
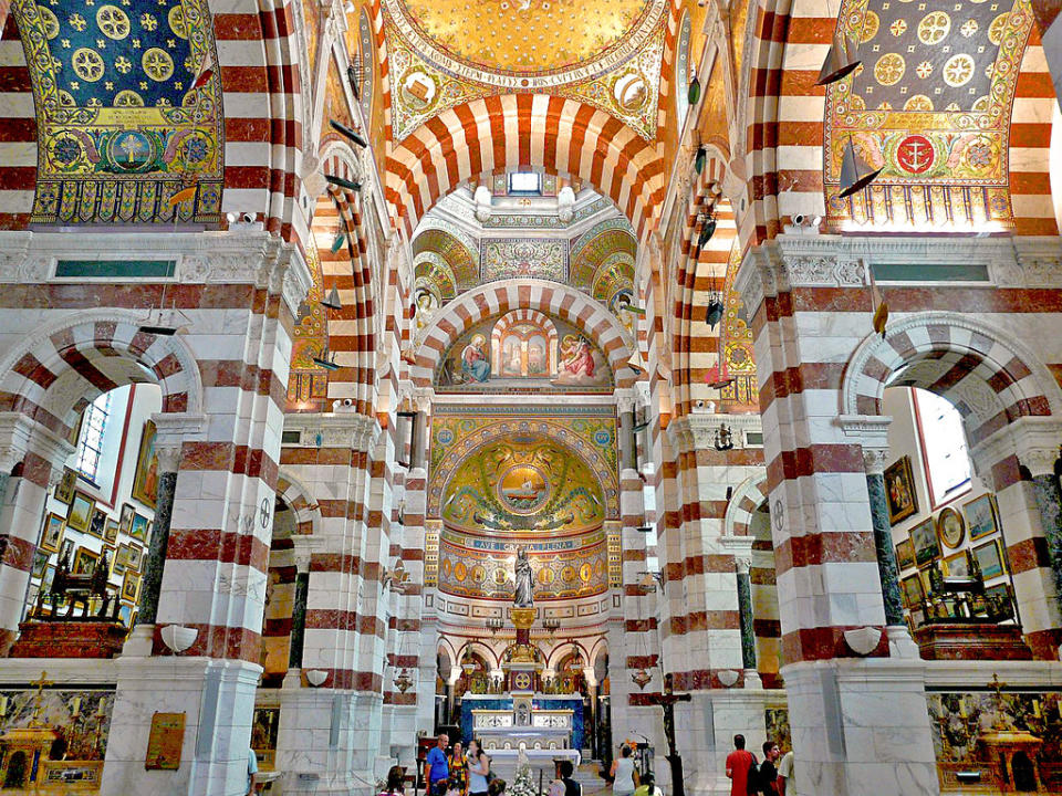
[[620,516],[614,408],[439,405],[430,451],[427,516],[451,530],[563,534]]

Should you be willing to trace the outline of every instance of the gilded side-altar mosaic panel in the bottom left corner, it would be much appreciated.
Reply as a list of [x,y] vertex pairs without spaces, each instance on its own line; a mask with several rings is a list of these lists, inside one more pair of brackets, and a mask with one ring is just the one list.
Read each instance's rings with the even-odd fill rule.
[[97,792],[113,710],[113,690],[0,691],[0,786],[11,793]]

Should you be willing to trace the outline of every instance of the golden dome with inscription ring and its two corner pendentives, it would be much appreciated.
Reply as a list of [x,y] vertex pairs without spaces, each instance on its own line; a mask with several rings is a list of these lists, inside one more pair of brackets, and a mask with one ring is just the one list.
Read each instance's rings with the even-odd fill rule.
[[650,140],[666,9],[664,0],[385,0],[395,139],[456,105],[525,92],[589,103]]

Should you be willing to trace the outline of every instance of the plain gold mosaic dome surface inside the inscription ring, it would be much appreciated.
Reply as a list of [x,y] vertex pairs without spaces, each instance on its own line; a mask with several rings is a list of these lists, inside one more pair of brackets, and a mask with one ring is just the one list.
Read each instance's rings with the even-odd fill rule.
[[490,72],[544,74],[597,61],[635,33],[647,0],[405,0],[406,18],[452,57]]

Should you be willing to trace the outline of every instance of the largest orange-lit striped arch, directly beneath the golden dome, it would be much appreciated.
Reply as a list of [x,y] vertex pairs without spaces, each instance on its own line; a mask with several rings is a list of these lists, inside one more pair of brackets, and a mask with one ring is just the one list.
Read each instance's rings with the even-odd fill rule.
[[659,148],[603,111],[540,94],[491,96],[442,112],[387,156],[386,193],[412,237],[436,201],[485,172],[538,166],[611,197],[638,238],[664,199]]

